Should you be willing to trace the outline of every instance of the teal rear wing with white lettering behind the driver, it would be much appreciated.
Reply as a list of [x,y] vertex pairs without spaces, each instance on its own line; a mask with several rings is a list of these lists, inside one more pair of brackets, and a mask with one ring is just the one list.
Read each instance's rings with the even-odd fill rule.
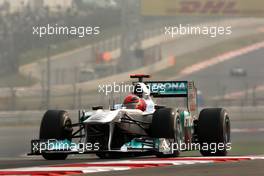
[[193,81],[146,81],[153,97],[186,97],[188,110],[198,114],[197,89]]

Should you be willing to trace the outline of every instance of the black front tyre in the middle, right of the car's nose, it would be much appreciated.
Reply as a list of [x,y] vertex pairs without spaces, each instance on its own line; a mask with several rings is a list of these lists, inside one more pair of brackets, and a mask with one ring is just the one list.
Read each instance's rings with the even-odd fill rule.
[[[181,122],[179,113],[172,108],[162,108],[153,114],[151,124],[151,136],[155,138],[172,139],[170,144],[179,144],[181,141]],[[169,146],[171,148],[171,146]],[[158,152],[157,157],[177,157],[180,150],[174,150],[173,154]]]

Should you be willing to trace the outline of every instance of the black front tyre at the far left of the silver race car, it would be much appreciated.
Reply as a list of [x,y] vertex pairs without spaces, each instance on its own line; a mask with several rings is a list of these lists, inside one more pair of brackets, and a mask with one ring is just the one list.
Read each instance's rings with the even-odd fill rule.
[[[39,139],[67,139],[71,141],[72,138],[72,122],[69,114],[61,110],[48,110],[41,121]],[[67,154],[64,153],[42,153],[46,160],[65,160]]]

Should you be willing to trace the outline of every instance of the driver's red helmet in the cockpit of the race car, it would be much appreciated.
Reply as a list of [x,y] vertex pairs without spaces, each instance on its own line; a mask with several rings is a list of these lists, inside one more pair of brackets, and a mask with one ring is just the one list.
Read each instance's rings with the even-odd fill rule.
[[139,109],[145,111],[147,108],[145,100],[134,94],[126,96],[123,104],[127,109]]

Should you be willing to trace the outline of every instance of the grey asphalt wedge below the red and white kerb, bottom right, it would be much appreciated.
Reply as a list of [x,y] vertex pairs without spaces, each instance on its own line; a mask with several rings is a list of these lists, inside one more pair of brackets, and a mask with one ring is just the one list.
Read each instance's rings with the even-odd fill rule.
[[113,173],[87,174],[94,176],[262,176],[264,174],[264,161],[240,161],[213,164],[195,164],[182,166],[165,166],[131,171],[118,171]]

